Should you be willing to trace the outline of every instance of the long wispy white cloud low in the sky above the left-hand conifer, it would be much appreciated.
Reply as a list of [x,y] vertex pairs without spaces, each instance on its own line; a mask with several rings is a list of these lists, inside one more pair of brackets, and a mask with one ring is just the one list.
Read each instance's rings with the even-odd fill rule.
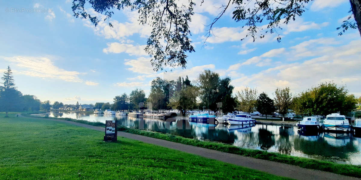
[[[19,74],[45,79],[58,79],[68,82],[84,82],[84,80],[79,77],[79,75],[84,73],[58,68],[48,57],[14,56],[4,57],[4,59],[15,63],[19,68],[23,68],[23,70],[18,70]],[[87,85],[94,85],[94,83],[90,81],[87,82],[84,83]]]

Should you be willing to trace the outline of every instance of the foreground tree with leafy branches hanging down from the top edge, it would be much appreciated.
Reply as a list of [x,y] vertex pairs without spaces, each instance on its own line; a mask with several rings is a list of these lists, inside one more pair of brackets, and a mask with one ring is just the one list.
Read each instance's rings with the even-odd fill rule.
[[[208,25],[205,37],[213,35],[213,25],[223,19],[221,16],[227,9],[234,7],[232,19],[243,22],[242,26],[247,28],[248,33],[244,38],[251,37],[255,41],[257,37],[264,38],[266,33],[277,33],[277,40],[280,42],[282,27],[302,16],[310,1],[312,0],[229,0],[219,8],[218,15]],[[198,5],[206,6],[206,3],[200,0]],[[361,35],[361,0],[350,0],[350,3]],[[98,14],[88,13],[87,7],[90,6]],[[73,0],[72,10],[73,16],[88,18],[95,26],[106,23],[114,14],[113,9],[138,11],[139,23],[152,26],[145,51],[151,56],[154,70],[161,70],[167,66],[186,68],[188,53],[194,52],[189,22],[192,21],[195,6],[196,3],[192,0]],[[109,26],[113,27],[112,23],[109,22]],[[347,27],[356,28],[356,25]],[[342,28],[347,30],[346,26]]]

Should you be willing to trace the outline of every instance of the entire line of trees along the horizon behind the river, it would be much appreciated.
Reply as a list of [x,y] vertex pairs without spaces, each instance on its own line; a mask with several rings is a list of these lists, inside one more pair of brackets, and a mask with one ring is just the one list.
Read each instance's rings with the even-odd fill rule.
[[[41,102],[34,95],[22,95],[14,84],[12,71],[8,69],[1,78],[0,86],[0,111],[38,111],[72,107],[79,109],[79,102],[63,104],[49,100]],[[258,111],[263,115],[271,115],[275,111],[284,115],[289,110],[299,115],[327,115],[332,112],[346,114],[352,110],[361,110],[356,107],[360,104],[361,97],[356,99],[353,94],[348,94],[344,86],[338,87],[333,82],[321,83],[318,86],[301,92],[295,96],[290,93],[289,87],[277,88],[274,99],[257,89],[245,87],[233,93],[234,87],[230,85],[229,77],[221,78],[218,73],[204,70],[195,81],[191,82],[186,76],[177,80],[155,78],[151,83],[151,90],[146,97],[142,89],[132,90],[128,95],[123,93],[113,98],[113,103],[97,102],[91,105],[92,109],[102,110],[144,110],[155,111],[177,109],[181,115],[186,116],[187,110],[211,110],[223,113]],[[235,94],[235,95],[234,95]]]

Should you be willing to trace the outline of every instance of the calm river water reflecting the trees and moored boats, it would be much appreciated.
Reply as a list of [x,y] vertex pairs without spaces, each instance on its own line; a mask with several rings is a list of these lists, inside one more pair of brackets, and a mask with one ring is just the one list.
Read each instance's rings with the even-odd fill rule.
[[119,125],[171,133],[202,141],[218,141],[249,149],[266,150],[298,157],[331,160],[339,163],[361,164],[361,136],[351,133],[321,132],[303,134],[293,126],[251,125],[226,126],[188,123],[187,120],[157,120],[129,116],[94,115],[89,113],[50,113],[50,117],[69,117],[93,122],[118,120]]

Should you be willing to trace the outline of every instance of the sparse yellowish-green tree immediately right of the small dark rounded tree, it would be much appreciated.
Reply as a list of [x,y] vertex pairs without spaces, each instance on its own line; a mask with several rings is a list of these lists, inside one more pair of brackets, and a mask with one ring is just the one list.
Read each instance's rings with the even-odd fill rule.
[[282,115],[288,113],[292,103],[292,93],[290,93],[290,88],[277,88],[274,91],[274,96],[274,103],[277,107],[278,113]]

